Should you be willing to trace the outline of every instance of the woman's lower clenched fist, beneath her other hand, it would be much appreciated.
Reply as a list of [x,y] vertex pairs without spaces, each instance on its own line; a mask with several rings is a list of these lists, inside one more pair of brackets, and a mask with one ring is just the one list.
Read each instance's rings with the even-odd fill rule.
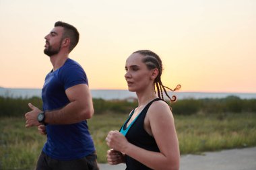
[[106,160],[110,165],[117,165],[119,163],[125,163],[125,155],[114,149],[110,149],[106,152]]

